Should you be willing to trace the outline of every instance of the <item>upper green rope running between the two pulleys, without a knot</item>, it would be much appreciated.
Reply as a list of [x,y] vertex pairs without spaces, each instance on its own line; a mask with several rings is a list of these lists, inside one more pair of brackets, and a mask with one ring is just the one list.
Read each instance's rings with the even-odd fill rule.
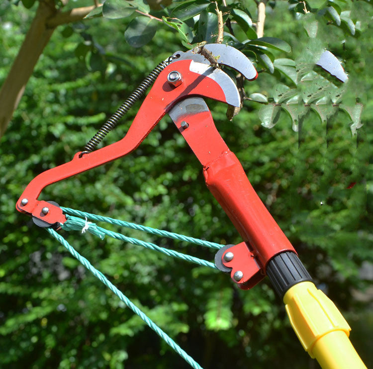
[[206,247],[210,247],[210,248],[213,248],[213,249],[220,249],[224,246],[224,245],[217,244],[215,242],[199,240],[198,238],[193,238],[193,237],[184,236],[184,235],[181,235],[181,234],[178,234],[178,233],[163,231],[161,229],[146,227],[146,226],[140,225],[140,224],[129,223],[129,222],[126,222],[124,220],[113,219],[113,218],[109,218],[109,217],[106,217],[106,216],[86,213],[85,211],[75,210],[75,209],[71,209],[69,207],[61,206],[61,209],[65,213],[70,214],[70,215],[82,216],[82,217],[86,217],[87,219],[95,220],[97,222],[106,222],[106,223],[119,225],[119,226],[126,227],[126,228],[132,228],[132,229],[136,229],[136,230],[139,230],[139,231],[148,232],[148,233],[151,233],[151,234],[154,234],[154,235],[157,235],[157,236],[164,236],[164,237],[173,238],[173,239],[176,239],[176,240],[187,241],[187,242],[193,243],[195,245],[206,246]]

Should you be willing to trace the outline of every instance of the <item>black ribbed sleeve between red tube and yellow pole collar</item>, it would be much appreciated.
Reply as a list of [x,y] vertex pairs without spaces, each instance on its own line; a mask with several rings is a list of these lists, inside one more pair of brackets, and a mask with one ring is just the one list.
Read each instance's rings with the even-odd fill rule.
[[294,284],[312,281],[298,256],[289,251],[273,257],[267,265],[266,272],[281,298]]

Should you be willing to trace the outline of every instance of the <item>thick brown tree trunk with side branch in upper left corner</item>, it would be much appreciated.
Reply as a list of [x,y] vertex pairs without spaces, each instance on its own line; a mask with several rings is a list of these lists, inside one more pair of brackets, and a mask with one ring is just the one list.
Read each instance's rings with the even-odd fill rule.
[[62,12],[56,9],[54,0],[39,0],[35,17],[0,89],[0,138],[53,31],[60,24],[83,19],[94,7],[95,5]]

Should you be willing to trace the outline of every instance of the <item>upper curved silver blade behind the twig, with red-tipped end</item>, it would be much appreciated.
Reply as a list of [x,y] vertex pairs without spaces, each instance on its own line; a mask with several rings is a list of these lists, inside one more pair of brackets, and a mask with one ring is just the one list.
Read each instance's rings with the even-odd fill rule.
[[[212,53],[216,58],[218,64],[223,64],[240,72],[249,81],[255,80],[258,77],[253,63],[241,51],[232,46],[225,44],[206,44],[203,46],[206,50]],[[173,56],[180,55],[177,60],[192,59],[198,63],[210,64],[210,62],[203,56],[194,53],[193,50],[187,52],[177,51]]]

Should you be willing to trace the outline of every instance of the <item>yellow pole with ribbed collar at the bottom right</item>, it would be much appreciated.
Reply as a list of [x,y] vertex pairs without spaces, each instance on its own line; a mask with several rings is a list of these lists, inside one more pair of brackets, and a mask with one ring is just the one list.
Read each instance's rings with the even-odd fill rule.
[[334,303],[309,281],[290,287],[283,302],[299,341],[323,369],[367,369],[352,346],[350,326]]

